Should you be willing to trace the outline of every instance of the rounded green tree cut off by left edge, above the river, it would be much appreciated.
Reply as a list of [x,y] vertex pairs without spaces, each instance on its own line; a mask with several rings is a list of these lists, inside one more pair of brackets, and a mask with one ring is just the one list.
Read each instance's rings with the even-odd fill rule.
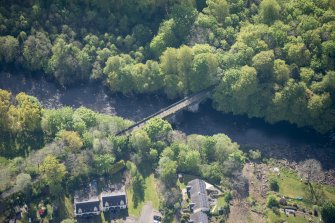
[[0,62],[12,63],[19,54],[19,41],[13,36],[0,36]]

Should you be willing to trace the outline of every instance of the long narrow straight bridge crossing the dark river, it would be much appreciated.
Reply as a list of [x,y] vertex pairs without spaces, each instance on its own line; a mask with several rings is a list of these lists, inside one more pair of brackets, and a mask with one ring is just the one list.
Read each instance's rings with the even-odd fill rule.
[[198,110],[199,103],[209,97],[209,94],[213,88],[214,87],[210,87],[198,93],[187,96],[183,98],[182,100],[177,101],[176,103],[173,103],[172,105],[166,108],[163,108],[160,111],[142,119],[141,121],[136,122],[135,124],[129,126],[128,128],[119,131],[118,133],[116,133],[116,135],[119,136],[123,134],[129,134],[133,130],[143,127],[150,119],[155,118],[155,117],[162,118],[162,119],[168,118],[169,116],[172,116],[178,111],[186,109],[186,108],[188,108],[191,111],[196,111]]

